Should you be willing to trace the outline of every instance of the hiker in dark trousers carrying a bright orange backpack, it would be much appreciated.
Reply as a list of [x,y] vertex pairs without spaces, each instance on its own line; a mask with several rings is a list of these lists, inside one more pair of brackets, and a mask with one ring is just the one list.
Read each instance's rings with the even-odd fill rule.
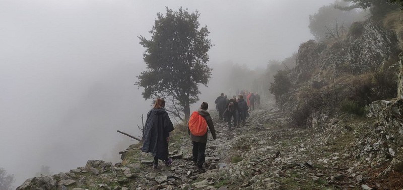
[[[201,103],[200,108],[193,112],[192,115],[190,116],[189,119],[189,123],[188,123],[188,133],[190,135],[190,139],[192,140],[192,144],[193,144],[193,149],[192,149],[192,153],[193,153],[193,163],[197,164],[197,167],[199,169],[203,168],[203,164],[205,163],[205,152],[206,152],[206,144],[207,144],[207,133],[208,130],[206,129],[205,133],[201,133],[201,135],[199,136],[199,134],[197,135],[193,135],[194,128],[195,131],[198,131],[199,128],[201,127],[205,127],[207,128],[207,126],[210,129],[210,132],[213,136],[213,139],[216,140],[216,130],[214,129],[214,124],[213,124],[213,120],[211,119],[211,116],[209,114],[209,112],[207,112],[207,109],[209,108],[209,104],[207,104],[206,102]],[[201,119],[203,119],[204,121],[201,122],[193,122],[193,119],[197,118],[199,116],[201,116]],[[200,117],[199,117],[200,118]],[[207,126],[203,126],[206,125]],[[197,126],[192,126],[196,124]],[[190,129],[192,129],[192,132],[190,131]]]

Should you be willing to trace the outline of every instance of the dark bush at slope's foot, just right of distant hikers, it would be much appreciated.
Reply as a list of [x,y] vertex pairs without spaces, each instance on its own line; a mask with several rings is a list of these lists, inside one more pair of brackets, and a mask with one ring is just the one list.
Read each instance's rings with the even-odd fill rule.
[[288,70],[279,70],[276,75],[274,75],[274,82],[270,82],[270,93],[274,94],[276,101],[280,101],[281,96],[288,92],[291,87],[291,81],[287,74],[290,73]]

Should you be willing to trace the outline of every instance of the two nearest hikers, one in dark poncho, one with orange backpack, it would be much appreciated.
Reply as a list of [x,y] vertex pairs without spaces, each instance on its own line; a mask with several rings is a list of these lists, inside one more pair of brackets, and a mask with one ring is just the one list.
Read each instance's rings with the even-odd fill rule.
[[[202,169],[205,163],[205,151],[207,145],[208,129],[215,140],[216,130],[209,112],[209,105],[203,102],[197,111],[194,111],[188,122],[188,133],[193,144],[192,160],[197,168]],[[173,124],[165,110],[165,101],[157,99],[147,114],[147,120],[143,129],[143,152],[150,152],[154,157],[153,168],[159,169],[158,160],[163,160],[165,165],[170,165],[172,159],[168,158],[169,132],[173,131]]]

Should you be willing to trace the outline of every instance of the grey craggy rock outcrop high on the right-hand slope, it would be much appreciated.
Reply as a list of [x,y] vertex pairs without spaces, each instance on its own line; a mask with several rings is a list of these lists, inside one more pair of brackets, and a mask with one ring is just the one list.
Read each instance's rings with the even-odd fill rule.
[[[380,67],[390,55],[396,54],[396,37],[371,22],[356,23],[343,40],[332,44],[313,40],[301,44],[296,57],[297,66],[291,75],[301,82],[311,78],[315,69],[331,69],[335,74],[360,74]],[[359,31],[357,31],[359,30]]]

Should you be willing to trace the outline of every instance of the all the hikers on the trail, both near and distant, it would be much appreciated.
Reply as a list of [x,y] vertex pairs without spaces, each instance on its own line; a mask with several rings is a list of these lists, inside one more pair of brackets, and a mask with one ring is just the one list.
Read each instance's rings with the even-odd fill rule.
[[[246,97],[246,100],[244,100]],[[246,125],[246,118],[255,106],[260,106],[258,93],[241,90],[238,97],[231,99],[221,93],[215,101],[216,109],[219,112],[219,120],[228,122],[229,130],[232,127],[239,127],[238,124]],[[213,139],[217,138],[213,120],[207,111],[209,105],[203,102],[197,111],[194,111],[188,120],[188,133],[193,144],[192,160],[199,169],[205,163],[205,151],[207,145],[208,131],[210,130]],[[233,125],[231,124],[233,122]],[[154,107],[148,112],[146,123],[143,129],[143,152],[150,152],[154,157],[153,168],[158,169],[158,160],[163,160],[165,165],[170,165],[172,159],[168,157],[169,133],[174,130],[173,124],[165,110],[164,99],[158,98]]]

